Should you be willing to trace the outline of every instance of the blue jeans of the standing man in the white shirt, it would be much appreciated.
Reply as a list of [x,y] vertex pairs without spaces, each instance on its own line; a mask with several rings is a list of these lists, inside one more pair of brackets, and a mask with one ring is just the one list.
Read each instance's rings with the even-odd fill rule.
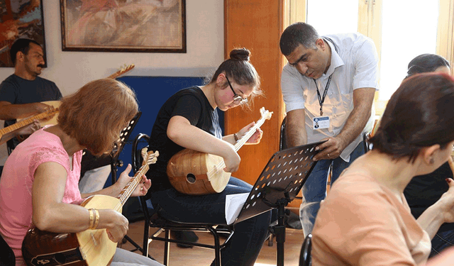
[[355,150],[350,153],[350,162],[345,162],[341,157],[337,157],[332,160],[319,160],[316,163],[314,170],[309,174],[301,189],[303,201],[301,206],[299,206],[299,219],[303,226],[304,235],[311,233],[312,228],[314,228],[315,217],[320,209],[320,201],[325,199],[326,196],[326,184],[330,167],[333,168],[331,176],[331,184],[333,184],[342,171],[364,153],[364,143],[360,142]]

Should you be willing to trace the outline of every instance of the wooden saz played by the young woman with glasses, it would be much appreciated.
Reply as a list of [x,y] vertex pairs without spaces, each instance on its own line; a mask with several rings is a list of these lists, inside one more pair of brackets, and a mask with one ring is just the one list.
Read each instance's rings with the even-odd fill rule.
[[[235,143],[238,152],[244,143],[254,135],[257,128],[271,118],[272,112],[260,109],[262,117]],[[204,195],[222,192],[231,177],[223,169],[226,164],[223,158],[195,150],[184,149],[170,158],[167,164],[167,176],[170,184],[178,192],[189,195]]]

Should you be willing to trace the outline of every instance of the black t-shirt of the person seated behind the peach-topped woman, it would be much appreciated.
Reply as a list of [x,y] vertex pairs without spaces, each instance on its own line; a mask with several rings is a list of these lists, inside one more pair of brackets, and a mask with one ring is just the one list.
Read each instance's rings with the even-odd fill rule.
[[[418,218],[423,211],[436,203],[441,195],[448,191],[446,178],[453,178],[448,162],[441,165],[430,174],[423,174],[411,179],[404,190],[405,199],[408,202],[411,214]],[[443,223],[440,231],[454,230],[454,223]]]

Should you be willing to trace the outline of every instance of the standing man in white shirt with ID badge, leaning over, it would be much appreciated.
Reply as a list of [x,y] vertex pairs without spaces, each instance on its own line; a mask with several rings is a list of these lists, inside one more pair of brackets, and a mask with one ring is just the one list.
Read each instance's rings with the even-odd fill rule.
[[309,234],[331,182],[362,155],[362,133],[372,130],[372,101],[378,83],[378,56],[374,43],[360,33],[320,37],[307,23],[294,23],[281,35],[280,49],[287,58],[281,89],[287,111],[287,146],[321,140],[318,161],[303,186],[300,219]]

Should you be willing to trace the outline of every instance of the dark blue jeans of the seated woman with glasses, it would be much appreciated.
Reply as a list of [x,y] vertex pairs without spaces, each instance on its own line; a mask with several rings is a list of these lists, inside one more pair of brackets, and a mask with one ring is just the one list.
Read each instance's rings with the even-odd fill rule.
[[[218,194],[191,196],[172,188],[153,192],[151,202],[162,208],[160,214],[164,218],[172,221],[221,225],[226,224],[226,195],[249,193],[251,189],[250,184],[231,177],[226,189]],[[237,223],[231,239],[221,250],[221,265],[253,266],[267,238],[270,220],[270,211],[267,211]]]

